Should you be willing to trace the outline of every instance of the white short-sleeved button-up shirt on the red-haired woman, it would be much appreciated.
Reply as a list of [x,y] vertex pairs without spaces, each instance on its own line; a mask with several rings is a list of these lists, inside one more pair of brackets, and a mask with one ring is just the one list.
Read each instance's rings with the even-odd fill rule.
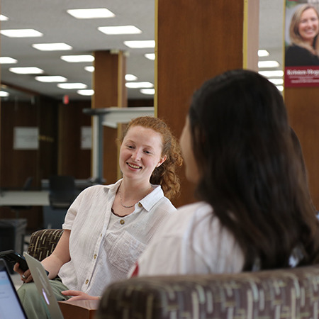
[[100,296],[108,284],[125,279],[164,218],[176,211],[160,186],[125,217],[111,213],[121,180],[84,189],[67,211],[69,253],[59,276],[69,289]]

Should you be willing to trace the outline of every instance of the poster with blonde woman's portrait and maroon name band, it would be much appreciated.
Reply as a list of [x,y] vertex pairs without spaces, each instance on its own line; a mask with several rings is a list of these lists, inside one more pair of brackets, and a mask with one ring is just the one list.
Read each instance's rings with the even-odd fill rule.
[[319,0],[286,0],[286,87],[319,86]]

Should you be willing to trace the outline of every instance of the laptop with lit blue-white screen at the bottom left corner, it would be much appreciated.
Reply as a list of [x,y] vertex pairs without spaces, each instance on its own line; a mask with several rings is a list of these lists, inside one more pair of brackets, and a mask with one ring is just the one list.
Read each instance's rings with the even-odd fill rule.
[[4,259],[0,259],[0,318],[28,319]]

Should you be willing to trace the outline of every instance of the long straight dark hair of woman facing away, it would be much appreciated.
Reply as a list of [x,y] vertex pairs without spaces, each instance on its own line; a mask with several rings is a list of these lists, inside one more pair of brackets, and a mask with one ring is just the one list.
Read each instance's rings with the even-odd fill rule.
[[225,72],[195,92],[189,121],[196,194],[239,242],[243,270],[288,267],[296,248],[302,263],[315,262],[318,221],[276,86],[256,72]]

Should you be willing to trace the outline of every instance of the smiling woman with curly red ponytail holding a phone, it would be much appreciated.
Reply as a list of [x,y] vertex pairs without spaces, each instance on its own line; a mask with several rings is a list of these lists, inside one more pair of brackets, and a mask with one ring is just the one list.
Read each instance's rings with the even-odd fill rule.
[[[159,226],[176,211],[181,166],[177,139],[159,118],[128,124],[120,150],[123,179],[84,189],[67,211],[63,235],[43,260],[57,300],[98,299],[108,284],[125,279]],[[32,276],[16,265],[18,294],[28,318],[46,318]],[[58,275],[58,277],[57,277]]]

